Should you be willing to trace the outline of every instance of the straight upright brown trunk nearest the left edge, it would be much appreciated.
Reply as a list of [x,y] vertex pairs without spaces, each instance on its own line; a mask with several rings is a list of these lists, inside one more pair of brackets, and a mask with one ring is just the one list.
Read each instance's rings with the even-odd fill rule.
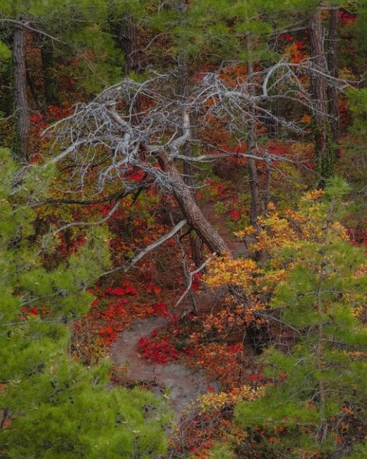
[[28,161],[30,117],[27,98],[27,72],[25,61],[25,30],[17,27],[13,42],[14,99],[17,109],[18,160]]

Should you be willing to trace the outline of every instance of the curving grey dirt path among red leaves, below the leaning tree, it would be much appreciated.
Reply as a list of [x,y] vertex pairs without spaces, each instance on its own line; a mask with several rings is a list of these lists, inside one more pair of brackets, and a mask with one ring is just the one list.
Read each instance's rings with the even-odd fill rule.
[[125,330],[121,338],[111,346],[111,358],[117,365],[128,364],[127,381],[156,383],[157,395],[164,393],[165,397],[168,396],[169,405],[179,414],[191,400],[206,393],[207,386],[216,388],[217,385],[202,375],[193,373],[182,364],[155,364],[140,356],[138,348],[140,338],[150,338],[154,330],[166,324],[167,319],[155,316],[133,323],[133,326]]

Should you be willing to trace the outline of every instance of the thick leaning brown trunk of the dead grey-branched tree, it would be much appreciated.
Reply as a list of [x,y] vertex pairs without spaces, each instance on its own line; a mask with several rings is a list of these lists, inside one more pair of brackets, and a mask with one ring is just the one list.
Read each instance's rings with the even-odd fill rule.
[[222,236],[220,236],[212,225],[210,225],[210,222],[206,220],[198,204],[195,203],[191,189],[184,183],[173,160],[167,155],[160,155],[158,161],[164,172],[169,174],[175,184],[174,198],[179,204],[188,224],[195,229],[195,232],[207,245],[210,251],[231,256],[231,251],[227,247]]

